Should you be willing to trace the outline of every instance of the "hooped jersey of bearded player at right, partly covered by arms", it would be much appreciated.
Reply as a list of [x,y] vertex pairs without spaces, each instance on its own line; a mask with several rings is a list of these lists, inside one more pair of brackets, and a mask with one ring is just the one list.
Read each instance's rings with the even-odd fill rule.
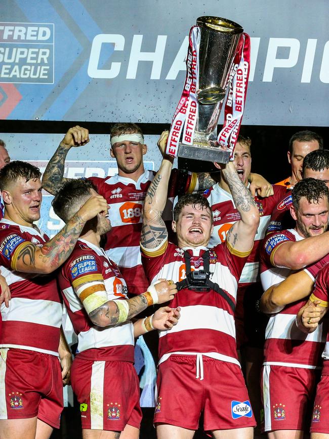
[[[277,248],[284,242],[303,239],[294,229],[272,232],[266,236],[261,251],[261,280],[264,291],[294,272],[289,268],[274,265],[273,257]],[[296,325],[296,315],[305,303],[307,299],[299,300],[270,316],[265,334],[264,365],[307,369],[320,366],[325,342],[323,324],[312,334],[303,333]]]

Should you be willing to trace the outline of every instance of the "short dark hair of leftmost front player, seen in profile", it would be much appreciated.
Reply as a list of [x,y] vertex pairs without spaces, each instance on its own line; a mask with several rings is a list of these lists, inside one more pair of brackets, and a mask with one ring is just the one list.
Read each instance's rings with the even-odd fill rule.
[[0,170],[0,187],[4,190],[8,184],[16,183],[18,178],[23,178],[25,181],[36,180],[41,178],[41,172],[30,163],[14,160]]

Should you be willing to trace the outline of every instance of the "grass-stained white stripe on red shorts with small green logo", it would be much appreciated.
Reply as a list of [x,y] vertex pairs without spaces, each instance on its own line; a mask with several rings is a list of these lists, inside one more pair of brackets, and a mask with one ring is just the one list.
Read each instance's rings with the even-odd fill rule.
[[91,428],[103,430],[103,394],[105,361],[95,361],[90,380],[90,419]]

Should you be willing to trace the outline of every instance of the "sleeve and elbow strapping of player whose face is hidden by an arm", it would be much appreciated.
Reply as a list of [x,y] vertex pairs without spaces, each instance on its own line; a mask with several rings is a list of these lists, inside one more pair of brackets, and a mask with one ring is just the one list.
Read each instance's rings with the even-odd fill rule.
[[85,253],[71,259],[65,264],[64,272],[88,314],[108,301],[96,254]]

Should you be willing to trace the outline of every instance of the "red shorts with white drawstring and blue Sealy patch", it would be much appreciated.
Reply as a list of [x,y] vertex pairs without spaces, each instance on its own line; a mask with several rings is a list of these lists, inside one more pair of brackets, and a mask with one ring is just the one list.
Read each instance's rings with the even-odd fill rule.
[[203,412],[204,430],[256,425],[239,366],[202,356],[203,380],[196,379],[196,355],[171,355],[156,381],[154,423],[196,430]]

